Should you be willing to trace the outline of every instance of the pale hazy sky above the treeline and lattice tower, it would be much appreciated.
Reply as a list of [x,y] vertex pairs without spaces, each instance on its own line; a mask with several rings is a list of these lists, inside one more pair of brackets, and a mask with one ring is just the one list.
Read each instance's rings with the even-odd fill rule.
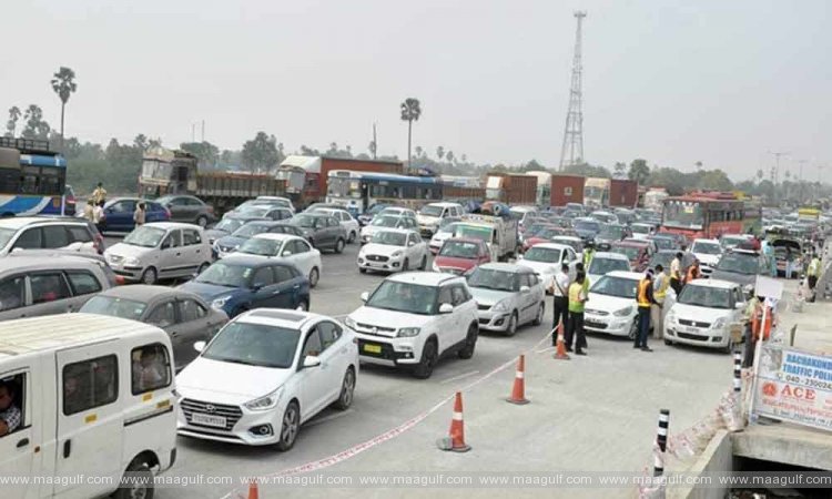
[[[832,173],[828,0],[27,0],[3,7],[0,118],[77,73],[68,136],[139,133],[240,149],[263,130],[286,151],[331,142],[407,156],[414,146],[477,163],[557,167],[575,10],[584,21],[586,160],[645,157],[734,180],[773,165]],[[825,167],[824,171],[816,166]],[[782,175],[782,174],[781,174]],[[781,176],[782,180],[782,176]]]

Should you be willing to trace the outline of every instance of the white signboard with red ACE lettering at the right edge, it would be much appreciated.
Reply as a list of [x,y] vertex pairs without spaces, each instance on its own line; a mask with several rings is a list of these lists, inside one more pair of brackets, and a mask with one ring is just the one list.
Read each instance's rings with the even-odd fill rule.
[[763,346],[758,369],[755,414],[832,431],[832,356]]

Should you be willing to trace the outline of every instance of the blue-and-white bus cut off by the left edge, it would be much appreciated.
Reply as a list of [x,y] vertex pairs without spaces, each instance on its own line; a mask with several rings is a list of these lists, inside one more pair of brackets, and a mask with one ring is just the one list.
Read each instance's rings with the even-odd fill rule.
[[67,160],[49,141],[0,138],[0,216],[71,214],[67,197]]

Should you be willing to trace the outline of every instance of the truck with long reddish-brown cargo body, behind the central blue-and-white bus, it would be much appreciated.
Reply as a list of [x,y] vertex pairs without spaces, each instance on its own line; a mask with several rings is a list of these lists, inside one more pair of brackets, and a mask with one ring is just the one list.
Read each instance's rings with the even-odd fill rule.
[[324,201],[326,179],[332,170],[404,174],[400,161],[358,160],[335,156],[287,156],[277,171],[286,183],[286,193],[296,206],[308,206]]

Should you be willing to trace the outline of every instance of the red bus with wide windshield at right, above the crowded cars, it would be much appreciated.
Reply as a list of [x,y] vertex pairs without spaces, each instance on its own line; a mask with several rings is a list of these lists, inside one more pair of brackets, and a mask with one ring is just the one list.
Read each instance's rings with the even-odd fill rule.
[[745,206],[731,196],[690,194],[664,200],[661,231],[683,235],[688,241],[742,234]]

